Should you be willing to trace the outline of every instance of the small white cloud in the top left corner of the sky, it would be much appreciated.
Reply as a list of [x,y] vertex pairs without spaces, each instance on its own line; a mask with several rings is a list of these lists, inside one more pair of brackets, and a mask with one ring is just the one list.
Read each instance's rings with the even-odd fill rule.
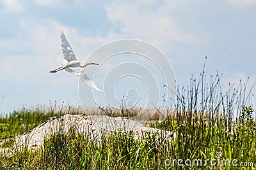
[[17,0],[0,0],[5,7],[4,11],[21,12],[24,11],[24,6]]

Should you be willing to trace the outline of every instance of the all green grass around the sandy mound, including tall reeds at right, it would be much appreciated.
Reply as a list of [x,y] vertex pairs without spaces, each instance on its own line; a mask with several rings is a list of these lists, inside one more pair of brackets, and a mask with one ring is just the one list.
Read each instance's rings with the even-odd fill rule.
[[[1,154],[0,169],[255,169],[256,124],[250,91],[240,83],[223,92],[219,74],[206,80],[203,71],[198,80],[191,78],[188,87],[177,86],[175,109],[165,110],[172,113],[170,117],[150,124],[175,132],[175,140],[159,133],[146,132],[135,139],[131,132],[106,134],[104,130],[100,139],[92,139],[72,128],[63,132],[60,126],[44,139],[44,148]],[[20,134],[23,124],[35,127],[51,114],[12,113],[1,119],[1,138]],[[202,166],[196,164],[200,160]]]

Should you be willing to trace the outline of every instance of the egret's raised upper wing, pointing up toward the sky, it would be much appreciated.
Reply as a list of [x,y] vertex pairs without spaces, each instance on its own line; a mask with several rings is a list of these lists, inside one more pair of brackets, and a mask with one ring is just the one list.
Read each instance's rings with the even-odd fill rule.
[[65,36],[64,32],[61,32],[60,39],[61,39],[61,49],[63,52],[63,57],[67,61],[77,60],[76,55],[73,51],[73,49],[70,46],[70,43],[68,43],[68,40]]

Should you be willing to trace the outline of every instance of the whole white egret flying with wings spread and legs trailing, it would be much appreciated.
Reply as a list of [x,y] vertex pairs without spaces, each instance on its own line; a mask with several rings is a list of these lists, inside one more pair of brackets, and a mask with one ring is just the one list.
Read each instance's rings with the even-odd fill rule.
[[60,35],[61,48],[62,48],[64,60],[62,60],[62,62],[61,62],[61,67],[50,71],[50,73],[56,73],[57,71],[61,71],[61,70],[65,69],[65,71],[68,71],[68,72],[73,73],[76,76],[78,76],[81,81],[86,83],[86,85],[92,87],[95,90],[99,90],[100,92],[103,92],[104,90],[100,90],[97,87],[97,85],[95,85],[95,83],[93,83],[93,81],[90,80],[90,78],[88,78],[88,76],[86,75],[86,73],[83,70],[83,67],[86,67],[89,65],[99,65],[99,64],[94,63],[94,62],[88,62],[88,63],[84,64],[83,66],[81,66],[81,62],[79,62],[76,59],[76,55],[75,55],[73,49],[71,48],[70,43],[68,43],[68,40],[67,40],[65,34],[66,33],[61,32],[61,35]]

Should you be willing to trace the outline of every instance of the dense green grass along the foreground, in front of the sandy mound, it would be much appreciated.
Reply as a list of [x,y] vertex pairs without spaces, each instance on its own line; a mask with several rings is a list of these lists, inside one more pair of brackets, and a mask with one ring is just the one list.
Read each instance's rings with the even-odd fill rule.
[[[247,106],[243,106],[248,108]],[[237,159],[241,162],[255,162],[254,133],[247,132],[251,128],[248,123],[234,125],[232,132],[225,129],[220,118],[214,126],[207,120],[197,124],[184,124],[189,120],[166,120],[163,127],[178,134],[176,140],[168,140],[161,134],[145,133],[135,139],[131,132],[113,132],[102,135],[100,140],[92,139],[89,134],[77,134],[76,129],[69,129],[51,134],[44,139],[44,149],[17,150],[14,155],[1,155],[2,169],[182,169],[177,159],[187,160],[216,159],[220,152],[220,160]],[[180,122],[179,122],[180,121]],[[184,124],[184,125],[183,125]],[[254,125],[252,125],[254,126]],[[102,131],[102,134],[105,134]],[[166,160],[167,159],[167,160]],[[170,162],[176,163],[170,164]],[[184,164],[184,162],[183,162]],[[204,164],[204,163],[203,163]],[[186,169],[241,169],[232,166],[186,166]],[[248,167],[246,169],[253,169]]]

